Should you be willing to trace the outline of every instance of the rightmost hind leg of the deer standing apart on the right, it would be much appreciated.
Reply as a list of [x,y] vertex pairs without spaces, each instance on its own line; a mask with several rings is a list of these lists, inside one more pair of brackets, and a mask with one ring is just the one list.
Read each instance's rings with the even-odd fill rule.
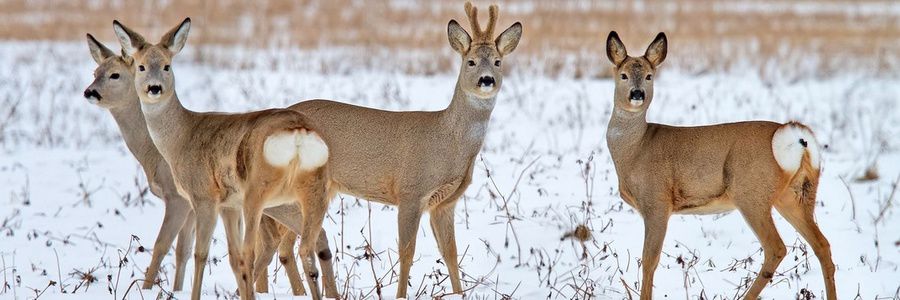
[[837,299],[837,290],[834,284],[834,262],[831,260],[831,245],[816,224],[813,211],[815,202],[815,197],[802,199],[802,202],[801,199],[790,197],[785,201],[776,202],[775,208],[778,209],[778,213],[794,226],[794,229],[800,232],[803,239],[813,248],[813,252],[816,253],[816,257],[819,259],[819,265],[822,266],[827,299],[835,300]]

